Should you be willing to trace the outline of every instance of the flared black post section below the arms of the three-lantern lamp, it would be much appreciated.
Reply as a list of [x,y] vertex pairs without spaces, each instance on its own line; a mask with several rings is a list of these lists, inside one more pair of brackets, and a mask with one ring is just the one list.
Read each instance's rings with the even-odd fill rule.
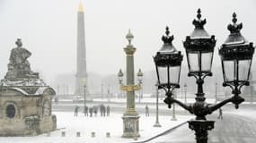
[[215,121],[192,120],[188,122],[190,130],[195,130],[197,143],[207,143],[207,131],[214,129]]

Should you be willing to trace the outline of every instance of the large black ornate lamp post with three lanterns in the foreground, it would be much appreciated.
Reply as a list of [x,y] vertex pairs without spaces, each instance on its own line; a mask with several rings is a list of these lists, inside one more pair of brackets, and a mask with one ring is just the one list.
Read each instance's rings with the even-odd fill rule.
[[[189,128],[195,130],[197,143],[207,143],[207,131],[214,128],[215,121],[207,121],[207,114],[212,114],[218,108],[223,105],[232,102],[235,108],[238,108],[239,105],[244,101],[243,97],[240,97],[241,88],[244,85],[249,85],[249,75],[252,63],[252,55],[254,53],[254,47],[252,43],[247,42],[240,33],[242,29],[242,24],[236,24],[236,14],[233,14],[233,24],[228,25],[230,30],[230,35],[225,40],[219,50],[219,55],[221,56],[222,69],[224,75],[223,86],[228,86],[232,88],[233,97],[229,97],[224,101],[221,101],[216,104],[207,104],[205,94],[203,92],[203,83],[204,79],[207,76],[211,76],[211,66],[214,53],[214,47],[216,45],[215,36],[209,36],[207,31],[204,29],[206,20],[201,20],[201,12],[198,10],[198,20],[194,20],[193,24],[195,29],[190,36],[186,38],[183,42],[183,45],[186,50],[187,61],[189,65],[189,74],[188,76],[194,76],[198,84],[198,93],[196,94],[196,102],[190,105],[183,104],[181,101],[175,99],[172,96],[172,90],[174,88],[179,88],[179,82],[173,84],[170,82],[172,79],[180,78],[180,69],[175,73],[170,74],[169,68],[172,68],[173,65],[180,65],[181,67],[181,52],[179,54],[171,55],[163,52],[163,48],[157,52],[154,56],[154,63],[156,65],[157,78],[159,80],[159,88],[164,88],[166,91],[166,98],[164,103],[171,108],[173,103],[181,105],[184,109],[188,110],[190,114],[195,114],[196,119],[189,121]],[[166,43],[169,46],[172,46],[172,40],[166,42],[167,39],[173,39],[173,37],[168,36],[169,30],[167,29],[166,36],[163,36],[164,45]],[[163,46],[164,46],[163,45]],[[171,50],[172,49],[172,50]],[[172,52],[171,52],[172,51]],[[174,53],[173,48],[169,48],[169,53]],[[168,55],[168,56],[166,56]],[[179,63],[179,64],[174,64]],[[158,69],[161,67],[167,67],[167,73],[160,72]],[[241,70],[245,71],[241,72]],[[245,74],[244,74],[245,73]],[[166,76],[167,75],[167,76]],[[172,75],[172,77],[170,76]],[[165,78],[163,79],[163,76]],[[176,77],[174,77],[176,76]],[[168,81],[167,84],[163,81]],[[179,81],[179,80],[178,80]]]

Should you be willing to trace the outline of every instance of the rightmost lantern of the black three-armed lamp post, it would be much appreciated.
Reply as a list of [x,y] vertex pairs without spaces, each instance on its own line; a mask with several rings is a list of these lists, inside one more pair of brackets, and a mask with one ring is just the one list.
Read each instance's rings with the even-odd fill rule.
[[241,104],[244,99],[239,97],[241,88],[249,86],[249,77],[252,65],[252,55],[254,47],[252,42],[248,42],[243,38],[240,30],[243,24],[237,24],[236,14],[233,13],[233,23],[227,26],[230,31],[225,43],[219,49],[221,57],[224,83],[223,86],[229,86],[233,89],[232,93],[237,100],[235,107]]

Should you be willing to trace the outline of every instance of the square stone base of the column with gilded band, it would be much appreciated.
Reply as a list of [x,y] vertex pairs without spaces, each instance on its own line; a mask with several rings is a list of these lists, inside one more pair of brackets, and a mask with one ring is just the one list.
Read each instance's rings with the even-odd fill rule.
[[123,119],[123,135],[122,138],[135,139],[140,137],[139,135],[139,126],[138,119],[139,115],[137,114],[124,114]]

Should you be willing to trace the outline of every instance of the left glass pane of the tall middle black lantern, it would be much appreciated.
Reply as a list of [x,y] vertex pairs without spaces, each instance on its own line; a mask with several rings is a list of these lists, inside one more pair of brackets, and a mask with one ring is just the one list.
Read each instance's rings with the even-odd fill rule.
[[199,54],[188,53],[190,71],[199,71]]

